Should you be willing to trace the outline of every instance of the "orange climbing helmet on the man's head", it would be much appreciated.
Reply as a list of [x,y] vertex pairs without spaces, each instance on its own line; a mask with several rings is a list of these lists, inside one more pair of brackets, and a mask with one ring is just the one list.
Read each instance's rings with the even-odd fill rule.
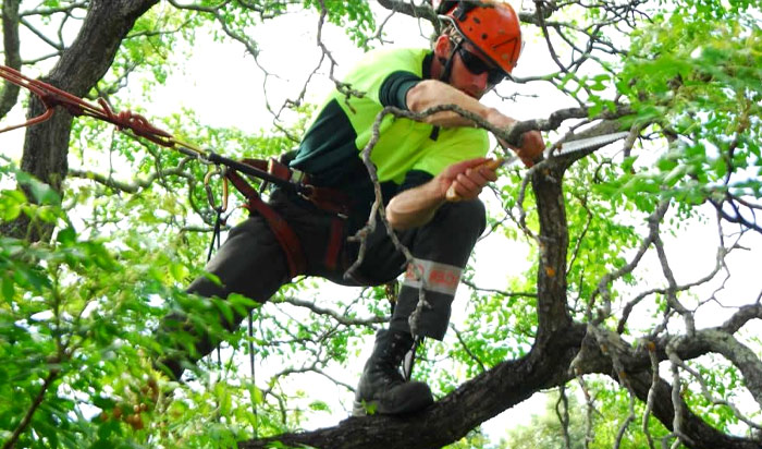
[[451,22],[460,35],[509,74],[521,54],[521,28],[516,12],[505,1],[434,0],[440,19]]

